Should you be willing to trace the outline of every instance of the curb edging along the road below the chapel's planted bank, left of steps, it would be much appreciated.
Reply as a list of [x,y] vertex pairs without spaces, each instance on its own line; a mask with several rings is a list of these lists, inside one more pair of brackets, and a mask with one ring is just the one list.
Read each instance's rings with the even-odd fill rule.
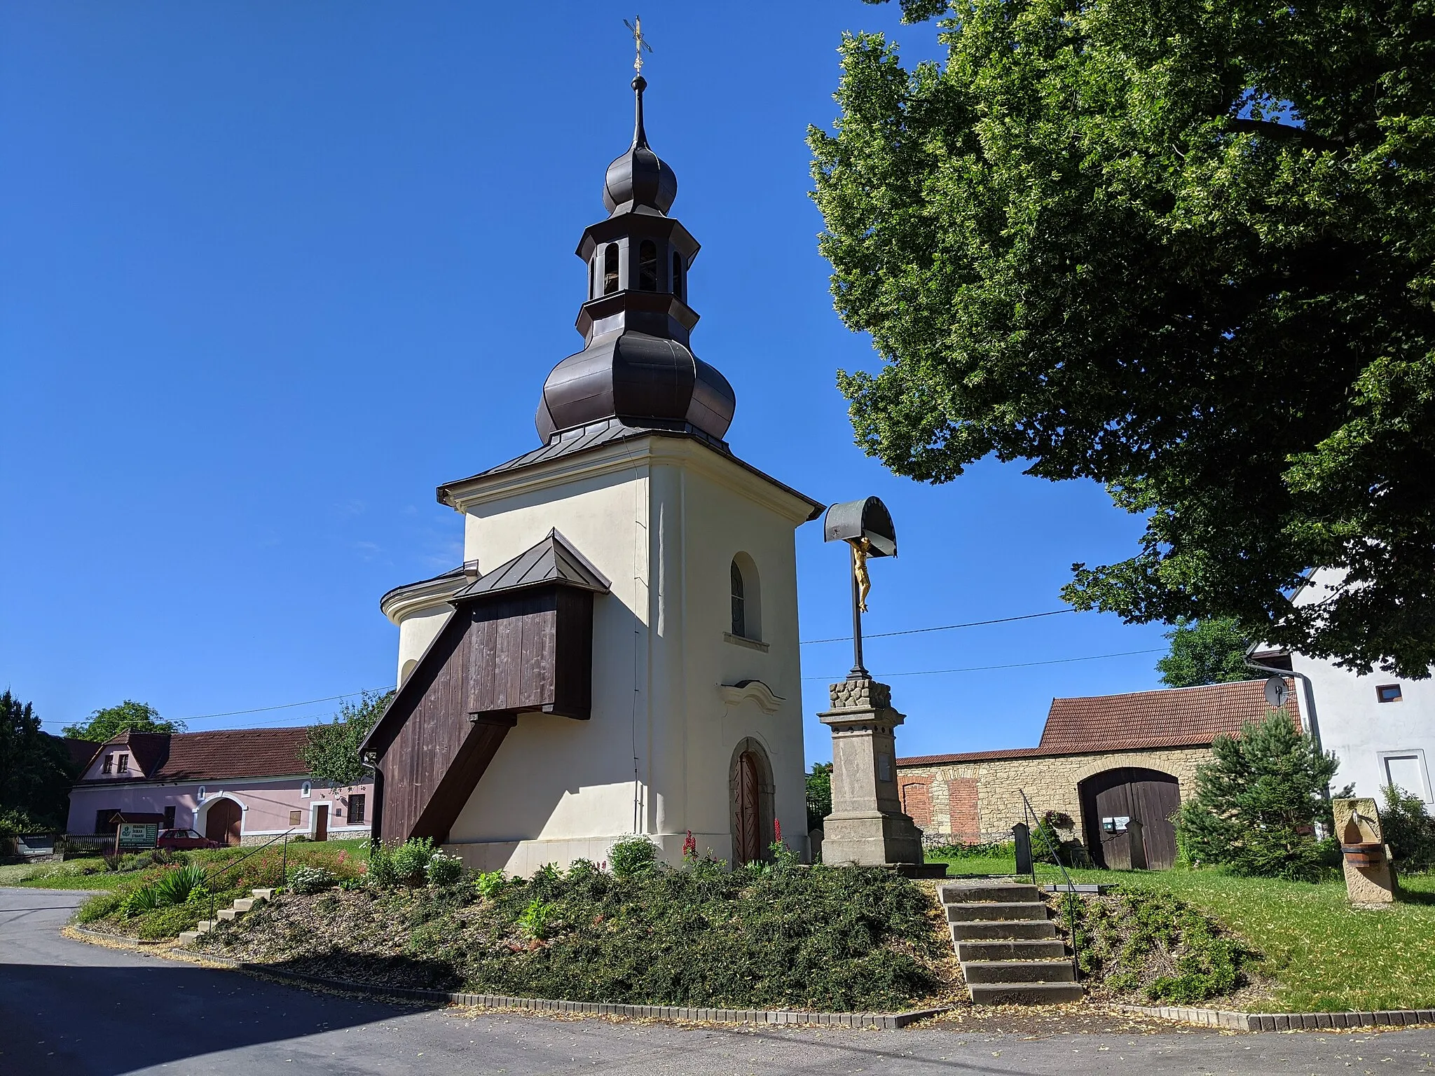
[[[121,934],[105,934],[85,927],[72,927],[76,934],[105,941],[119,941],[126,944],[139,943],[138,938],[126,938]],[[161,944],[161,943],[139,943]],[[449,993],[446,990],[418,990],[415,987],[383,986],[382,983],[357,983],[350,978],[326,978],[324,976],[306,976],[301,971],[277,968],[273,964],[253,964],[230,957],[215,957],[208,953],[187,953],[212,964],[234,968],[235,971],[253,971],[271,978],[284,978],[294,983],[310,983],[333,990],[347,990],[356,994],[373,994],[376,997],[402,997],[409,1001],[430,1001],[438,1004],[481,1006],[484,1009],[521,1009],[531,1013],[583,1013],[588,1016],[633,1016],[656,1020],[683,1020],[689,1023],[715,1024],[802,1024],[819,1027],[870,1027],[874,1030],[895,1030],[946,1013],[951,1006],[937,1006],[936,1009],[913,1009],[905,1013],[809,1013],[791,1009],[700,1009],[693,1006],[630,1006],[616,1001],[554,1001],[544,997],[511,997],[508,994],[471,994]]]

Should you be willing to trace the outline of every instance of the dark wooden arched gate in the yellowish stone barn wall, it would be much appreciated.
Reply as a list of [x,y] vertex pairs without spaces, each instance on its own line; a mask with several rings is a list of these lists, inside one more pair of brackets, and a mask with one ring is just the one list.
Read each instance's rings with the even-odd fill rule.
[[[1175,864],[1175,826],[1181,788],[1170,773],[1139,766],[1093,773],[1081,782],[1086,848],[1098,867],[1165,871]],[[1132,819],[1141,822],[1141,846],[1132,848]]]

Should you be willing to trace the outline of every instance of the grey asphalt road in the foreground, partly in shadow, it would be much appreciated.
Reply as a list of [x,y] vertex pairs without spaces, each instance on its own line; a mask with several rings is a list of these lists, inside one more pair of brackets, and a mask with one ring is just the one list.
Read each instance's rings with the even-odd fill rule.
[[1055,1034],[722,1030],[422,1010],[60,937],[85,894],[0,889],[0,1076],[1406,1073],[1435,1030]]

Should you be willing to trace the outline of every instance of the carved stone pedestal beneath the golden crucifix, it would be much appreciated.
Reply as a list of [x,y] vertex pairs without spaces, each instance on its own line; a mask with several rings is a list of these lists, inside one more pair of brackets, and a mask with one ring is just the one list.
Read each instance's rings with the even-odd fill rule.
[[822,821],[822,862],[884,867],[921,864],[921,831],[901,811],[893,729],[905,717],[891,687],[871,679],[831,687],[832,813]]

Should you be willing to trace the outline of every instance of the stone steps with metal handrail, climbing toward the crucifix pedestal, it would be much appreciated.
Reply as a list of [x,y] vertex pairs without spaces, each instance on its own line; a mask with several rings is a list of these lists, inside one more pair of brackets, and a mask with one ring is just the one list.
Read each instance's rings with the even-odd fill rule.
[[1058,1004],[1085,991],[1035,885],[938,885],[974,1004]]

